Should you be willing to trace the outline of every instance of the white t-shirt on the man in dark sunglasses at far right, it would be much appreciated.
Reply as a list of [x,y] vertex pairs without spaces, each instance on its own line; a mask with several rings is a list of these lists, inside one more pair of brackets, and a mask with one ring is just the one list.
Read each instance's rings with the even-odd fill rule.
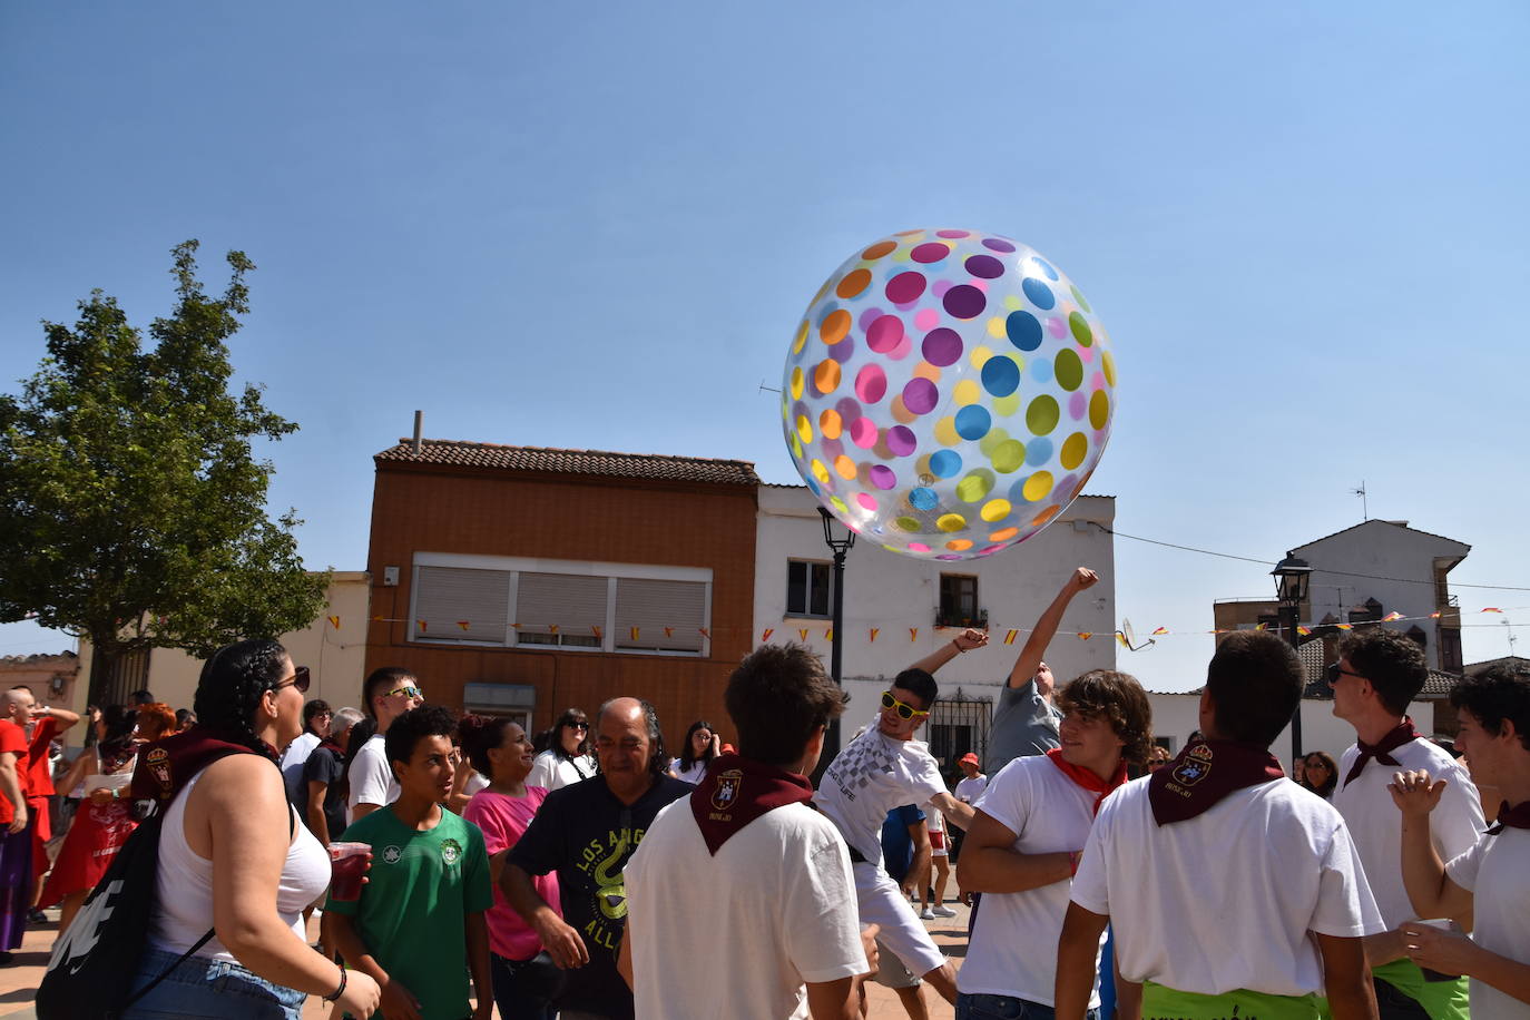
[[1382,921],[1392,930],[1405,921],[1418,919],[1408,899],[1408,888],[1403,887],[1403,817],[1386,789],[1392,775],[1405,769],[1429,769],[1431,778],[1446,781],[1440,804],[1429,814],[1429,836],[1441,861],[1470,850],[1487,826],[1472,777],[1429,740],[1409,740],[1392,751],[1400,765],[1382,765],[1374,759],[1366,762],[1359,778],[1345,786],[1343,777],[1349,775],[1359,754],[1354,745],[1343,752],[1333,806],[1349,826],[1360,850],[1360,864],[1365,866],[1365,881],[1382,910]]

